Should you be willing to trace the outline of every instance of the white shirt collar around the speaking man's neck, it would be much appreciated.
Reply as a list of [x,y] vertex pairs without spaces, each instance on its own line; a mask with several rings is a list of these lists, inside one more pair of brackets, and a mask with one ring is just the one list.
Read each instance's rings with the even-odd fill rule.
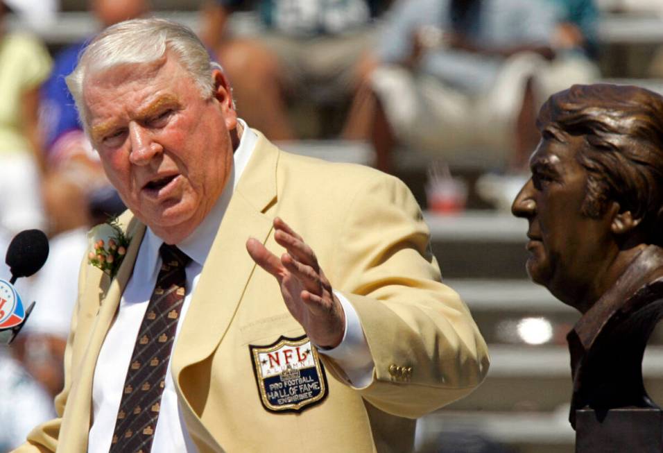
[[[232,156],[233,166],[230,170],[228,182],[226,183],[221,196],[219,196],[216,203],[214,203],[212,210],[210,210],[207,216],[205,216],[205,219],[203,219],[203,222],[198,225],[196,230],[193,230],[193,232],[189,234],[189,237],[176,244],[180,250],[189,255],[193,261],[201,266],[205,264],[205,259],[207,259],[209,250],[212,248],[212,243],[216,237],[218,227],[221,225],[223,215],[230,203],[230,198],[232,197],[237,182],[246,168],[246,164],[248,164],[253,149],[258,141],[256,133],[246,126],[246,122],[243,121],[243,119],[238,118],[237,121],[239,121],[243,127],[243,133],[239,140],[239,146],[237,146],[237,149]],[[143,243],[141,244],[141,249],[144,247],[146,248],[147,260],[145,263],[145,270],[149,270],[150,273],[157,266],[159,248],[162,243],[164,243],[164,240],[158,237],[152,229],[148,227],[145,232]]]

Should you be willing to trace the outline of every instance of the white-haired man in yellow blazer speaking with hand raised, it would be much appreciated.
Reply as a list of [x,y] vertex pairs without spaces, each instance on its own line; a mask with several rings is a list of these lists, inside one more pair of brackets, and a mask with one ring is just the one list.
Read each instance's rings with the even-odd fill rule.
[[481,382],[402,182],[279,151],[171,22],[108,28],[68,83],[130,212],[81,268],[60,418],[19,451],[406,452]]

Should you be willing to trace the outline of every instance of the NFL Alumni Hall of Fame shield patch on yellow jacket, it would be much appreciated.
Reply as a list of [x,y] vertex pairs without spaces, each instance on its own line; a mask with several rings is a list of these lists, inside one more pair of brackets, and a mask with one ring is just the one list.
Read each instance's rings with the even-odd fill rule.
[[280,336],[270,345],[249,345],[262,405],[270,412],[301,412],[329,393],[327,376],[307,336]]

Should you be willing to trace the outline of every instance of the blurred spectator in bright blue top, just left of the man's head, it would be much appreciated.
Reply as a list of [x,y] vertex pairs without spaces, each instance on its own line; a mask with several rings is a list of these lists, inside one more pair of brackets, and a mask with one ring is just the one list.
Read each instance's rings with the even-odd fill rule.
[[[107,27],[148,12],[147,0],[90,0],[101,26]],[[41,123],[46,137],[44,203],[49,213],[51,234],[87,226],[87,195],[107,185],[96,152],[78,122],[64,76],[76,66],[87,40],[64,49],[55,58],[51,76],[42,87]]]

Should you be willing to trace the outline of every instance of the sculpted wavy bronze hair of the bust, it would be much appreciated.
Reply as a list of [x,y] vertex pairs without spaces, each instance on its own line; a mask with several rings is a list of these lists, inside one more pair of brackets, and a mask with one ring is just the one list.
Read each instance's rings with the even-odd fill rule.
[[583,212],[597,217],[608,201],[641,219],[639,231],[663,245],[663,97],[626,85],[574,85],[553,94],[537,126],[585,139],[576,159],[587,170]]

